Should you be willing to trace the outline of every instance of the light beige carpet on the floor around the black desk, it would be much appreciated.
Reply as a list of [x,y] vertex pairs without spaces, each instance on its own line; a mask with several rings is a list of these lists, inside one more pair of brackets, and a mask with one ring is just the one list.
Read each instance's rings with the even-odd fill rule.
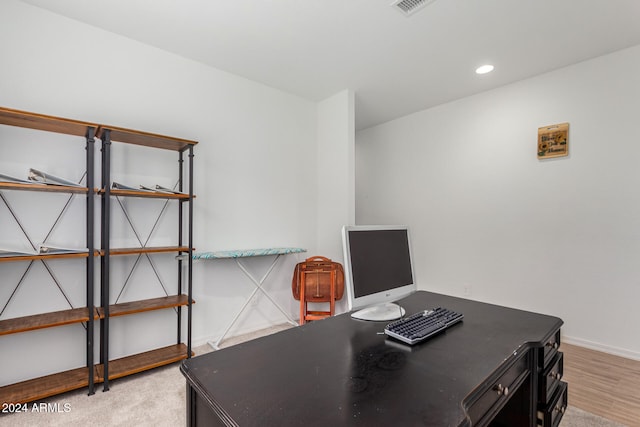
[[[258,336],[268,335],[289,325],[229,338],[228,347]],[[208,345],[194,349],[196,354],[211,351]],[[174,364],[111,382],[111,390],[101,389],[93,396],[79,390],[47,399],[48,412],[21,412],[0,415],[0,427],[34,426],[184,426],[186,425],[185,379]],[[30,410],[32,405],[29,405]],[[58,411],[55,411],[56,405]],[[66,406],[65,406],[66,405]],[[54,412],[51,412],[51,409]],[[68,409],[68,411],[65,411]],[[561,427],[620,427],[604,418],[570,407]]]

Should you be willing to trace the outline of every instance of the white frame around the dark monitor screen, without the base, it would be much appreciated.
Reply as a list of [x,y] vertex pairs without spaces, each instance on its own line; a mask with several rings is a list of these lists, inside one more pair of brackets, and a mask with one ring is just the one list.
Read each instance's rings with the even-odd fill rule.
[[[353,270],[351,266],[351,247],[349,244],[350,232],[361,231],[378,231],[378,230],[404,230],[407,234],[407,244],[409,246],[409,257],[411,265],[411,277],[413,283],[409,283],[404,286],[400,286],[393,289],[387,289],[379,291],[373,294],[368,294],[360,297],[355,296],[354,283],[353,283]],[[418,290],[416,282],[415,267],[413,262],[413,248],[411,244],[411,233],[409,227],[406,225],[345,225],[342,227],[342,245],[344,255],[344,273],[345,273],[345,288],[347,293],[347,305],[349,311],[358,310],[366,307],[375,306],[377,304],[384,304],[397,301],[404,298]]]

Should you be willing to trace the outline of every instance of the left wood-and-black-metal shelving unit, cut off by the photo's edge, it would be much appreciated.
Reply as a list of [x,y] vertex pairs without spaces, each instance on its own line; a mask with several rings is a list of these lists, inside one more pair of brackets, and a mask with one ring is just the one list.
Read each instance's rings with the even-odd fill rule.
[[[88,387],[89,394],[94,393],[94,384],[97,375],[94,369],[94,321],[98,319],[99,313],[94,307],[93,277],[94,277],[94,232],[93,218],[94,207],[93,198],[95,194],[93,183],[93,159],[95,133],[98,125],[77,120],[69,120],[60,117],[46,116],[26,111],[13,110],[0,107],[0,124],[17,126],[22,128],[35,129],[45,132],[61,133],[84,138],[86,145],[86,186],[72,187],[64,185],[48,184],[22,184],[11,182],[0,182],[0,195],[2,201],[9,209],[16,224],[22,230],[24,236],[29,240],[35,249],[27,231],[20,223],[20,219],[15,215],[2,193],[4,191],[35,191],[69,194],[69,199],[74,195],[85,195],[86,197],[86,252],[61,253],[61,254],[37,254],[37,255],[16,255],[0,257],[0,264],[8,262],[26,263],[27,267],[20,282],[15,285],[11,296],[2,307],[0,307],[0,336],[17,333],[24,333],[37,329],[54,328],[69,324],[84,324],[86,329],[86,365],[66,372],[55,373],[40,378],[33,378],[16,384],[9,384],[0,387],[0,402],[25,403],[38,399],[43,399],[55,394]],[[55,227],[55,224],[54,224]],[[53,227],[52,227],[53,228]],[[67,310],[54,311],[50,313],[40,313],[18,318],[2,319],[2,313],[8,306],[12,297],[21,285],[26,273],[36,262],[41,262],[49,271],[51,278],[56,281],[49,269],[48,262],[56,259],[77,258],[86,260],[86,306],[71,307]],[[55,262],[55,261],[53,261]],[[57,281],[56,281],[57,283]],[[67,300],[68,301],[68,300]]]

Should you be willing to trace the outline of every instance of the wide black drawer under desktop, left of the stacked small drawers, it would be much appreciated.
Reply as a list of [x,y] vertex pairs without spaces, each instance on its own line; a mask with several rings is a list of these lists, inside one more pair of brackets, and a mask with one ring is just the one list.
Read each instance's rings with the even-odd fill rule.
[[527,379],[531,374],[529,355],[529,352],[524,353],[475,401],[471,402],[468,414],[473,425],[484,425],[487,420],[491,420]]

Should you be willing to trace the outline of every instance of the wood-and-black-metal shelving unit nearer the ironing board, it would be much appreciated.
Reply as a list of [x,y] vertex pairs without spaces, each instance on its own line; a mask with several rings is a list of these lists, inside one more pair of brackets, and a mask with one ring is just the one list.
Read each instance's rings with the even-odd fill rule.
[[[104,390],[109,389],[109,381],[126,375],[135,374],[147,369],[174,363],[192,356],[191,350],[191,306],[192,298],[192,263],[193,263],[193,147],[196,141],[151,134],[130,129],[111,126],[101,126],[97,132],[102,140],[102,197],[101,211],[101,304],[100,332],[101,332],[101,361],[97,367],[98,380],[104,382]],[[114,189],[111,182],[111,145],[112,143],[134,144],[150,149],[163,149],[178,153],[178,191],[182,194],[168,194],[162,192],[136,191]],[[185,154],[188,166],[185,170]],[[186,186],[186,190],[185,187]],[[140,241],[140,247],[112,248],[111,235],[111,201],[113,198],[157,198],[178,203],[178,242],[176,246],[147,247]],[[144,200],[140,201],[144,203]],[[187,215],[184,215],[184,205]],[[123,208],[124,209],[124,208]],[[183,236],[186,221],[187,236]],[[175,253],[178,268],[177,292],[160,298],[150,298],[126,303],[112,303],[110,301],[110,262],[115,256],[142,255],[149,257],[156,253]],[[186,284],[183,283],[183,263],[187,263]],[[186,344],[182,338],[182,308],[187,309],[187,337]],[[123,357],[117,360],[109,358],[109,322],[112,317],[128,316],[152,310],[175,308],[177,313],[177,339],[175,345],[150,350],[147,352]]]

